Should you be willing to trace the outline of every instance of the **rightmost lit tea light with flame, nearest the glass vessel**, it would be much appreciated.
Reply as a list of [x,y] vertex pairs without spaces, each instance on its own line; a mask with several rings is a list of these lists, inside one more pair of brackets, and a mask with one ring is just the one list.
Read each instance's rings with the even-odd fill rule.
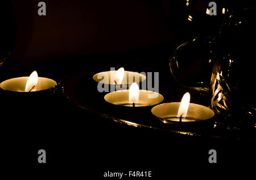
[[159,104],[151,112],[163,123],[198,122],[213,118],[214,112],[210,108],[189,102],[190,94],[185,93],[181,102]]

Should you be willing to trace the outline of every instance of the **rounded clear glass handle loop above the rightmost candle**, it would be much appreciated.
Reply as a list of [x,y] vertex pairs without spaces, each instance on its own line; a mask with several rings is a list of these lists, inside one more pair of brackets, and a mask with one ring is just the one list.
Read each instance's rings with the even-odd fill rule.
[[187,89],[208,93],[212,73],[211,49],[211,43],[196,39],[179,45],[169,60],[174,79]]

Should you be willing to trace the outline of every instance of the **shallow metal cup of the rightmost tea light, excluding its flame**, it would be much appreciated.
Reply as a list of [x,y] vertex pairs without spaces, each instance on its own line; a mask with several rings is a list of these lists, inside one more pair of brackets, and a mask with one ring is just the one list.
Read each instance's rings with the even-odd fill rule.
[[[180,122],[177,116],[180,102],[159,104],[151,109],[153,115],[162,120],[163,123]],[[213,118],[214,112],[200,104],[189,103],[188,112],[185,117],[181,118],[182,123],[200,122]]]

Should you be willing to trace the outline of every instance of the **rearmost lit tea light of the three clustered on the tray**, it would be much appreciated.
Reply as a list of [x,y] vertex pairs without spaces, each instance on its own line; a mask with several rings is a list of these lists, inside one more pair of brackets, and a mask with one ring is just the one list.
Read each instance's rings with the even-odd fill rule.
[[144,74],[126,71],[124,68],[119,68],[118,70],[110,70],[94,74],[93,79],[96,82],[108,85],[130,85],[133,82],[139,83],[144,81],[146,76],[144,76]]

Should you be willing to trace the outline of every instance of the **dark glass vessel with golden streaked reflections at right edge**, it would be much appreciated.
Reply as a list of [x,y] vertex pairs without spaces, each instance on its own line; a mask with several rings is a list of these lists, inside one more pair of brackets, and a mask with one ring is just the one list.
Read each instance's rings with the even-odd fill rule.
[[233,120],[251,121],[255,116],[256,101],[253,62],[256,9],[241,6],[229,10],[214,53],[210,103],[217,114],[232,116]]

